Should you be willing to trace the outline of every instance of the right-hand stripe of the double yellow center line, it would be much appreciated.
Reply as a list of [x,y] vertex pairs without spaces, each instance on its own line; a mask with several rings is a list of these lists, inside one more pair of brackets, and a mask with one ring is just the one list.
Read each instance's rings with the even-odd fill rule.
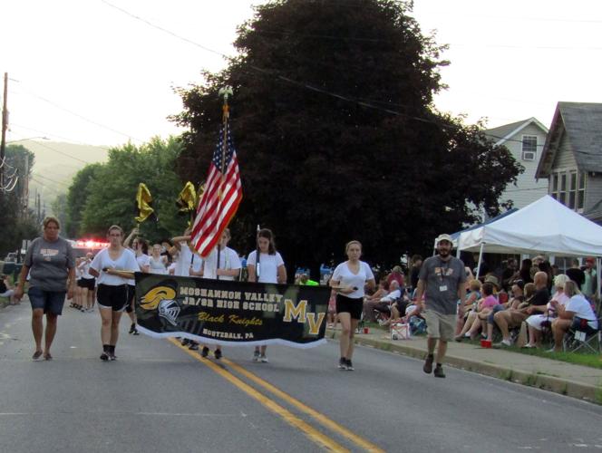
[[247,377],[249,380],[257,383],[257,385],[260,385],[267,391],[273,393],[281,400],[285,400],[290,405],[295,406],[296,409],[301,410],[302,412],[305,412],[306,414],[312,416],[314,419],[318,420],[325,428],[335,431],[336,433],[343,436],[345,439],[348,439],[351,442],[353,442],[358,447],[363,448],[366,451],[384,453],[384,449],[379,448],[378,446],[374,445],[372,442],[357,436],[356,434],[351,432],[349,429],[346,429],[345,427],[336,423],[334,420],[327,418],[324,414],[318,412],[317,410],[314,410],[314,409],[310,408],[309,406],[306,406],[306,404],[304,404],[303,402],[301,402],[299,400],[296,400],[295,398],[293,398],[289,394],[285,393],[284,391],[277,389],[273,384],[271,384],[267,381],[264,381],[263,379],[259,378],[256,374],[253,374],[251,371],[247,371],[246,369],[242,368],[241,366],[237,365],[236,363],[234,363],[232,361],[228,361],[228,359],[222,359],[222,361],[224,361],[224,363],[228,364],[228,366],[230,366],[233,370],[238,371],[240,374]]

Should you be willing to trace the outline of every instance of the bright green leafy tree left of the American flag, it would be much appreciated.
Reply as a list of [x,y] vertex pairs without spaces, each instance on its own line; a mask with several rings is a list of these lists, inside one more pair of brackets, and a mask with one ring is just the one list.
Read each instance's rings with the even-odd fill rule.
[[[136,226],[135,197],[141,182],[150,189],[153,208],[159,216],[157,223],[142,223],[141,234],[151,240],[181,234],[186,218],[178,216],[175,201],[183,184],[173,170],[180,150],[180,140],[176,138],[155,138],[141,147],[130,143],[111,149],[109,161],[89,172],[80,192],[84,200],[78,235],[103,236],[112,224],[125,230]],[[75,182],[84,184],[77,177]],[[70,195],[72,189],[76,188],[70,188]]]

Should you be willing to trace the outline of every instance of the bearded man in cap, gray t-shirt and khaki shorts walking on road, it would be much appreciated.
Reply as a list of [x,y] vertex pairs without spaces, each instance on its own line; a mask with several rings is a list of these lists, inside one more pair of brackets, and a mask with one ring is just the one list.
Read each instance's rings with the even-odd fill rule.
[[[445,377],[442,363],[447,351],[447,342],[453,340],[456,316],[462,318],[464,314],[462,306],[457,303],[458,300],[463,301],[466,296],[466,273],[464,263],[452,256],[452,246],[452,236],[437,237],[439,255],[427,258],[422,264],[416,291],[416,301],[421,301],[422,294],[425,294],[423,317],[428,333],[429,352],[422,370],[428,374],[432,372],[433,353],[439,340],[437,366],[434,370],[434,376],[437,378]],[[417,304],[420,306],[420,302]]]

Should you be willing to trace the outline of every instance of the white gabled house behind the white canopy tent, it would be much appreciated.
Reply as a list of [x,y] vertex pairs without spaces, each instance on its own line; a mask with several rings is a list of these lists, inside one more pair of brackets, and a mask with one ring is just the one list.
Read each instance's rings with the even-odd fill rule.
[[484,130],[484,134],[510,150],[514,159],[525,168],[517,177],[515,185],[510,185],[502,193],[500,201],[512,200],[514,207],[526,207],[531,202],[548,193],[548,181],[535,177],[541,151],[548,136],[548,128],[535,118],[505,124]]

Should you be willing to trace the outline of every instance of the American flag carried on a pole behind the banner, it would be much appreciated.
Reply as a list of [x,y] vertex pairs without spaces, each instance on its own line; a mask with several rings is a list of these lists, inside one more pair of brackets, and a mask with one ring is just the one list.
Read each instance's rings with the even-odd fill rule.
[[[224,144],[224,127],[227,143]],[[224,148],[226,145],[226,149]],[[222,155],[224,173],[222,174]],[[197,217],[194,219],[190,242],[203,258],[207,257],[237,212],[242,199],[242,186],[238,172],[237,153],[232,145],[228,122],[219,130],[218,145],[209,165],[209,177],[199,201]]]

